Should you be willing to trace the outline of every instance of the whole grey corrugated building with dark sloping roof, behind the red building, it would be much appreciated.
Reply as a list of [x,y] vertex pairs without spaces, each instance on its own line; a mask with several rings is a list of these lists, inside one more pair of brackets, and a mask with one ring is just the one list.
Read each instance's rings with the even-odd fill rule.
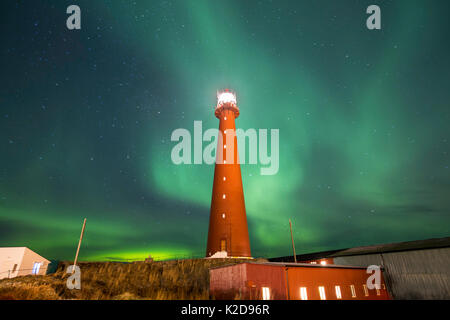
[[450,299],[450,237],[298,255],[297,261],[379,265],[394,299]]

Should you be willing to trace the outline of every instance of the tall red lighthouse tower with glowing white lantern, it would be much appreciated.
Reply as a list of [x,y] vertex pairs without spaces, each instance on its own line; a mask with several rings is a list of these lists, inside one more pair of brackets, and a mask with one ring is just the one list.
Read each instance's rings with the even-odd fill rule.
[[235,119],[239,116],[236,95],[228,90],[217,95],[220,120],[209,217],[206,256],[251,257],[239,164]]

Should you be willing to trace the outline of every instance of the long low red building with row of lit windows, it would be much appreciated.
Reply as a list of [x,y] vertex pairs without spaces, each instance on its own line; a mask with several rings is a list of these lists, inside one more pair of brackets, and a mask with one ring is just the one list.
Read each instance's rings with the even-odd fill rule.
[[303,264],[242,263],[210,270],[210,295],[219,300],[389,300],[366,285],[366,268]]

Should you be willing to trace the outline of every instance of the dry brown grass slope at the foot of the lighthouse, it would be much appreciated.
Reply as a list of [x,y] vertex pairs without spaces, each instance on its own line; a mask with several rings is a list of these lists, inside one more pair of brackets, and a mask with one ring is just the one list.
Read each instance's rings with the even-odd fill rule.
[[66,286],[69,262],[56,273],[0,280],[0,300],[207,300],[209,268],[237,259],[80,263],[81,290]]

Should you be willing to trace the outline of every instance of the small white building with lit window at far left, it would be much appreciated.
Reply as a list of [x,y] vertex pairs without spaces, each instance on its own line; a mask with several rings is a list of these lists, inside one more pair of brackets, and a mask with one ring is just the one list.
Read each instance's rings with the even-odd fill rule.
[[0,248],[0,279],[45,275],[50,261],[26,247]]

